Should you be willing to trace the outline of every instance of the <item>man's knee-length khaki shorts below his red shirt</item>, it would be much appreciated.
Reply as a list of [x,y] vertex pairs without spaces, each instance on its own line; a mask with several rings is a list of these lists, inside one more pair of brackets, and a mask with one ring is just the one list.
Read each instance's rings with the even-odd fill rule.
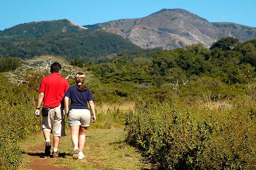
[[48,116],[42,119],[42,130],[53,132],[53,136],[66,136],[63,106],[59,105],[58,107],[49,109]]

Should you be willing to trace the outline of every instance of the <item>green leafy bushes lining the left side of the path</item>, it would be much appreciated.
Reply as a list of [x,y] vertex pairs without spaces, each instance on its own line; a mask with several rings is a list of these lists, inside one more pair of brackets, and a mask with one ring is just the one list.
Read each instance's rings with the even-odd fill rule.
[[0,169],[17,169],[22,161],[18,140],[40,129],[33,114],[35,96],[24,86],[10,85],[0,74]]

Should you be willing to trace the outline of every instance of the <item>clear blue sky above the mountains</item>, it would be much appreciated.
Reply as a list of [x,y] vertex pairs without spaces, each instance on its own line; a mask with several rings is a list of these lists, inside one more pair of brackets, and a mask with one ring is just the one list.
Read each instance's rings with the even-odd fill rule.
[[0,30],[32,21],[69,19],[78,25],[140,18],[182,8],[210,22],[256,27],[255,0],[1,0]]

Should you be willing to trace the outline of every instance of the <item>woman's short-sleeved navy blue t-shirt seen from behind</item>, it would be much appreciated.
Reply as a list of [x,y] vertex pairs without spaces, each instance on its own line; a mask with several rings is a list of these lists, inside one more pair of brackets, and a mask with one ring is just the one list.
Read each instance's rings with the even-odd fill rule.
[[68,88],[68,91],[64,95],[71,99],[71,105],[69,107],[69,110],[71,109],[88,109],[89,107],[87,105],[87,102],[94,100],[92,97],[92,93],[88,87],[86,91],[79,92],[77,90],[78,85],[73,85]]

